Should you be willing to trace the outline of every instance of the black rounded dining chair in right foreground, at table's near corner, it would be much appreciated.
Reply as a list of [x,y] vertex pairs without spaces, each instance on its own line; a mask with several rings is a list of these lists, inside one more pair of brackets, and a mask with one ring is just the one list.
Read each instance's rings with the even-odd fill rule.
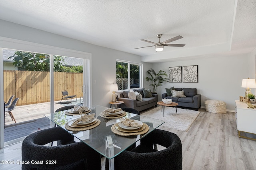
[[[157,150],[154,144],[166,149]],[[106,161],[108,169],[108,161]],[[182,144],[171,132],[155,129],[141,139],[141,144],[131,151],[124,150],[114,158],[118,170],[182,170]]]

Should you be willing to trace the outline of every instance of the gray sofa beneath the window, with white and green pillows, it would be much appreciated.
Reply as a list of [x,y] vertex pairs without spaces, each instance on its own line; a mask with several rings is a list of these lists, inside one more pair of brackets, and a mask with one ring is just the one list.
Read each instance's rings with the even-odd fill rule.
[[142,102],[138,101],[138,100],[132,100],[128,98],[128,93],[130,92],[130,90],[124,90],[121,94],[120,94],[120,101],[124,101],[123,104],[121,104],[121,107],[129,107],[129,108],[133,108],[136,109],[138,111],[142,111],[145,109],[148,109],[152,106],[157,107],[157,100],[158,100],[158,95],[157,94],[152,94],[152,97],[150,98],[144,98],[144,94],[143,94],[143,89],[134,89],[134,92],[140,92],[140,94],[142,95]]

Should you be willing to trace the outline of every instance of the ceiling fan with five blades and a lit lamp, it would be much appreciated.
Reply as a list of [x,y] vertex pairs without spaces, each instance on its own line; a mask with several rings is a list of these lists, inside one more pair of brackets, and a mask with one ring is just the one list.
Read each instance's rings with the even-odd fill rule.
[[[155,46],[156,47],[156,51],[163,51],[164,50],[164,46],[168,46],[168,47],[184,47],[184,45],[185,45],[185,44],[167,44],[167,43],[170,43],[172,41],[176,41],[178,39],[183,38],[180,35],[178,35],[176,37],[173,37],[171,39],[168,39],[166,41],[163,41],[162,43],[160,42],[160,38],[162,37],[162,34],[157,34],[156,36],[158,37],[158,43],[154,43],[152,41],[148,41],[148,40],[145,40],[145,39],[140,39],[140,41],[145,41],[145,42],[154,44],[154,45],[147,46],[147,47],[154,47]],[[136,48],[136,49],[141,49],[141,48],[145,48],[145,47],[140,47],[140,48]]]

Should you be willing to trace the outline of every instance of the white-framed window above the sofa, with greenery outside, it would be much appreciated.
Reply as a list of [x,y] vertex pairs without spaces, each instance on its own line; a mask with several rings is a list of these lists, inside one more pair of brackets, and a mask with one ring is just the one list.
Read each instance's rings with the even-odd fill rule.
[[141,64],[116,61],[116,84],[118,90],[141,87]]

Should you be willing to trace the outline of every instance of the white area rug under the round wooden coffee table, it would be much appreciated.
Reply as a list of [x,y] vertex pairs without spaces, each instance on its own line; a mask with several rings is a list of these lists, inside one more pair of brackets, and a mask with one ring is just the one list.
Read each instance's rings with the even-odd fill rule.
[[161,111],[161,106],[158,106],[150,111],[142,113],[142,116],[152,117],[165,121],[162,126],[170,127],[179,131],[188,131],[200,111],[190,109],[177,108],[178,115],[176,115],[175,107],[164,107],[164,116]]

